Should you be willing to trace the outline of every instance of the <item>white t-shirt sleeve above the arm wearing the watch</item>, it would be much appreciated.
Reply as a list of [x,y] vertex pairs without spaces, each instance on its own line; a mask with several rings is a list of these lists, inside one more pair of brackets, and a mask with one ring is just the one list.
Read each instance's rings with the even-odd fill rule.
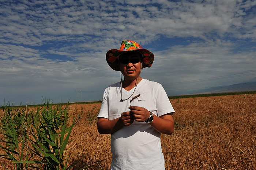
[[175,113],[172,104],[165,92],[165,89],[161,84],[159,84],[156,94],[156,107],[157,107],[157,116],[162,116],[167,113],[172,115]]

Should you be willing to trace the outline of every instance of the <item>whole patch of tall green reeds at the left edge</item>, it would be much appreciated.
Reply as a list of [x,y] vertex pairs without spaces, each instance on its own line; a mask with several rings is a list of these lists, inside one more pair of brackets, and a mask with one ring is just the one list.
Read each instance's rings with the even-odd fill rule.
[[[0,148],[5,154],[0,155],[14,163],[16,170],[43,169],[68,170],[71,155],[65,154],[65,148],[70,142],[72,128],[78,122],[68,115],[68,105],[54,107],[46,101],[41,109],[29,112],[25,109],[14,110],[12,106],[2,106],[0,116],[0,132],[4,136]],[[81,158],[82,159],[82,158]],[[4,166],[4,164],[1,162]],[[5,166],[4,166],[5,167]],[[7,168],[5,167],[7,170]]]

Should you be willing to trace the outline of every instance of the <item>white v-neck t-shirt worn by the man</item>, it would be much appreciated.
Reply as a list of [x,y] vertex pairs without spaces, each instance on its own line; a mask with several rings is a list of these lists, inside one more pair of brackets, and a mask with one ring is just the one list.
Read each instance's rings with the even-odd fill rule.
[[[130,91],[122,89],[122,98],[132,95]],[[172,104],[162,85],[142,79],[137,85],[132,97],[139,95],[131,102],[132,106],[144,107],[155,115],[162,116],[167,113],[174,114]],[[131,98],[132,98],[131,97]],[[121,101],[120,82],[108,86],[102,99],[98,117],[113,120],[121,113],[130,111],[130,99]],[[110,170],[164,170],[160,133],[146,122],[134,121],[111,134],[112,164]]]

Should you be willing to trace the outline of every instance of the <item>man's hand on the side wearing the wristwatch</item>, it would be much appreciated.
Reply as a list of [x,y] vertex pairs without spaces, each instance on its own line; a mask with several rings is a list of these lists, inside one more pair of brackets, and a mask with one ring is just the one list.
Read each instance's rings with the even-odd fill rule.
[[147,109],[145,109],[144,107],[130,106],[128,109],[131,110],[133,119],[138,122],[144,122],[144,121],[148,120],[148,118],[150,116],[150,112]]

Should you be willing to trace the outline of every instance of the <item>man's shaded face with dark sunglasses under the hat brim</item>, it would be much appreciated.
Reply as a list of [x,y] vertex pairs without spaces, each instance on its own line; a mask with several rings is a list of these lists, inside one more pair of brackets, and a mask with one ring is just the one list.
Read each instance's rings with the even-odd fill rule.
[[141,69],[141,54],[139,52],[126,52],[119,56],[120,70],[127,79],[136,79]]

